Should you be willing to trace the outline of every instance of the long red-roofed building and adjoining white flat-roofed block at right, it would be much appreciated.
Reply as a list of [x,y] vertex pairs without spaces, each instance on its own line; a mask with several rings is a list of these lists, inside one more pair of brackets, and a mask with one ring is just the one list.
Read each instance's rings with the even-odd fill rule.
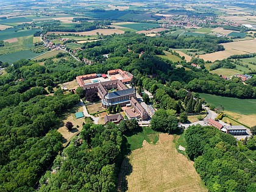
[[246,128],[244,126],[223,126],[218,121],[213,119],[205,119],[207,126],[213,126],[221,130],[224,133],[230,133],[232,135],[246,135]]

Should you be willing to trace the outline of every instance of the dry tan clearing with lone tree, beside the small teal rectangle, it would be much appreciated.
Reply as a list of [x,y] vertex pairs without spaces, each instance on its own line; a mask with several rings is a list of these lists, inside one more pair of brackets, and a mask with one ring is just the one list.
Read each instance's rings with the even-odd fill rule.
[[[79,118],[76,119],[74,113],[76,112],[82,112],[83,111],[83,107],[81,106],[76,106],[73,110],[69,110],[68,112],[65,113],[65,115],[63,116],[63,121],[62,121],[62,127],[60,127],[58,129],[58,132],[60,132],[62,134],[63,137],[63,144],[65,145],[66,143],[68,143],[68,141],[74,136],[76,135],[78,132],[80,132],[82,130],[82,123],[85,122],[84,118]],[[65,124],[66,122],[72,122],[74,125],[74,128],[69,131],[68,129],[66,129]],[[77,125],[79,127],[77,127]]]

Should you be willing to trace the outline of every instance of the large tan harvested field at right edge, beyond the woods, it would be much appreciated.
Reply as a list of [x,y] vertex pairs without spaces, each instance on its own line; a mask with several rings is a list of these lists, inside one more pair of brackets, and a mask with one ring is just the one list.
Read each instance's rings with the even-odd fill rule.
[[222,43],[225,50],[213,52],[211,54],[199,55],[200,58],[205,61],[209,60],[214,62],[215,60],[226,59],[230,55],[241,55],[255,52],[256,50],[256,39],[247,41],[235,41],[231,43]]

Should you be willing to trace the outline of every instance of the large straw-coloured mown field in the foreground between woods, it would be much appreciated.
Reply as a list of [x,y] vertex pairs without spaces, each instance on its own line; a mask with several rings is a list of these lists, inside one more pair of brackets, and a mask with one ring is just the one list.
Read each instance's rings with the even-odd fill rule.
[[132,151],[129,162],[124,160],[119,176],[127,180],[128,192],[207,191],[193,162],[177,152],[173,140],[173,135],[161,133],[156,144],[144,140],[143,148]]

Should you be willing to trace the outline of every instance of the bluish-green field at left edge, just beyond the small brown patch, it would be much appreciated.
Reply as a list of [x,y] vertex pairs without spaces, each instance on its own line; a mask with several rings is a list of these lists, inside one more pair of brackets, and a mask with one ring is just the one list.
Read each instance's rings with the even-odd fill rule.
[[15,32],[15,30],[18,29],[5,29],[5,30],[0,30],[0,40],[7,40],[10,38],[18,38],[18,37],[24,37],[24,36],[29,36],[29,35],[34,35],[35,32],[41,29],[24,29],[24,30],[18,30]]

